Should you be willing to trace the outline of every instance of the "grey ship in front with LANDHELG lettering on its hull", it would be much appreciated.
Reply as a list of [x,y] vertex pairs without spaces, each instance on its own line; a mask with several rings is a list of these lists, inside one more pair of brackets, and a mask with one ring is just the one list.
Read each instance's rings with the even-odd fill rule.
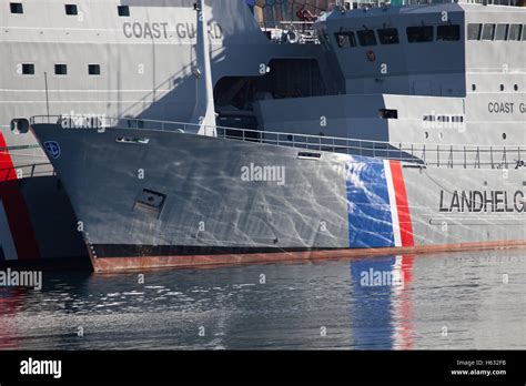
[[31,119],[97,271],[526,245],[526,9],[348,8],[315,23],[320,92],[265,62],[227,93],[256,128],[221,124],[204,23],[188,123]]

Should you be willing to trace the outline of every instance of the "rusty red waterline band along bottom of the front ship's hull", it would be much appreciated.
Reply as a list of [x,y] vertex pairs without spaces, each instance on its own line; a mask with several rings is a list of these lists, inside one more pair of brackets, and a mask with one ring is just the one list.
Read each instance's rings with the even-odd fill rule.
[[364,258],[386,255],[429,254],[442,252],[483,251],[497,248],[526,248],[526,240],[485,243],[463,243],[427,246],[331,250],[307,252],[253,253],[193,256],[93,257],[93,270],[100,273],[155,268],[196,268],[224,265],[294,263],[322,260]]

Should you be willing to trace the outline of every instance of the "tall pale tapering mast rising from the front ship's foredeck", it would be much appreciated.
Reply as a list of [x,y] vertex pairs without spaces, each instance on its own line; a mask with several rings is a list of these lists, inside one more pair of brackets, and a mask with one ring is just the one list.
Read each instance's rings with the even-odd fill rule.
[[195,109],[191,122],[199,124],[198,134],[216,136],[214,91],[212,85],[208,18],[204,0],[198,0],[194,4],[194,9],[198,13],[196,65],[193,69],[196,88]]

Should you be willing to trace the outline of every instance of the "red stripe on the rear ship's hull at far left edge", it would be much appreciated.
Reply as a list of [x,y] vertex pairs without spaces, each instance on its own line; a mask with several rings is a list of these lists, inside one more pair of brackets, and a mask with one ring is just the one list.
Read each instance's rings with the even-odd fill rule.
[[0,200],[3,202],[18,258],[39,258],[40,251],[31,225],[29,210],[19,190],[17,172],[1,132],[0,148],[4,149],[0,151]]

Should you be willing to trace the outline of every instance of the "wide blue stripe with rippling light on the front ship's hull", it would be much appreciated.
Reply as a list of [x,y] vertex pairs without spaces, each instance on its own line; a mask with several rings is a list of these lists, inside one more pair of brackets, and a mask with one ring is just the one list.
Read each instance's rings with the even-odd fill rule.
[[346,164],[346,191],[350,247],[394,246],[384,162],[351,159]]

